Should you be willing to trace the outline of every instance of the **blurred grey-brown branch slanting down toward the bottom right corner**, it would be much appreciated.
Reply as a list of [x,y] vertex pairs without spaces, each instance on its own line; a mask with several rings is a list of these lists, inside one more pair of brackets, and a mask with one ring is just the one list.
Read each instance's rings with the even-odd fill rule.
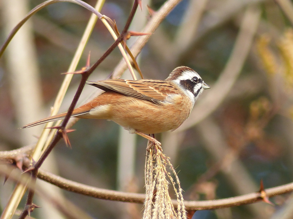
[[[232,151],[223,138],[221,128],[212,120],[205,119],[197,125],[205,146],[214,157],[217,167],[225,174],[228,182],[237,194],[248,194],[259,190],[250,174],[238,159],[238,152]],[[265,211],[265,203],[248,205],[247,208],[253,212],[256,218],[268,218],[270,211]]]

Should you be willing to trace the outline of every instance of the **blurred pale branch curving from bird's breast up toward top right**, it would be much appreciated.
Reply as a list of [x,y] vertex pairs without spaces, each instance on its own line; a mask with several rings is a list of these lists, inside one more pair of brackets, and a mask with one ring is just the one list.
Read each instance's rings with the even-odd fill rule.
[[[167,139],[170,138],[170,135],[176,135],[177,133],[194,126],[202,119],[206,118],[210,113],[217,109],[221,102],[227,97],[238,75],[240,74],[246,57],[250,51],[259,19],[260,10],[257,7],[250,6],[246,9],[239,34],[235,41],[234,49],[216,84],[212,86],[209,93],[197,101],[190,117],[177,130],[172,133],[163,133],[163,145],[168,145]],[[174,144],[175,143],[173,142],[173,145]],[[168,150],[168,147],[166,147],[165,153],[171,158],[175,158],[175,154],[177,152],[171,149],[173,150],[173,153],[171,154]]]

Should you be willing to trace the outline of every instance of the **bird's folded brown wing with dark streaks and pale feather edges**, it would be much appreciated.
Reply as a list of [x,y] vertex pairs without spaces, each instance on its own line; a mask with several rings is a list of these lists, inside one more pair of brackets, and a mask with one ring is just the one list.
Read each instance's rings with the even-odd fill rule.
[[164,101],[168,94],[176,93],[177,91],[177,88],[167,81],[151,79],[87,81],[87,84],[104,91],[112,90],[134,98],[152,101],[156,104]]

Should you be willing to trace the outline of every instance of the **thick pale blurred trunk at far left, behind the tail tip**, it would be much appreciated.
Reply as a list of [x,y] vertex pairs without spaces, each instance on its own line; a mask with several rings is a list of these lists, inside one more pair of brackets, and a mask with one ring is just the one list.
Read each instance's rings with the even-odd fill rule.
[[[5,1],[3,2],[3,18],[5,20],[6,35],[13,29],[13,27],[28,13],[28,1]],[[44,116],[42,109],[42,89],[40,87],[40,75],[38,69],[36,47],[32,31],[32,23],[27,22],[14,39],[11,41],[6,52],[6,62],[9,68],[8,77],[11,84],[11,96],[15,106],[17,117],[17,126],[21,127],[30,121],[35,121]],[[41,127],[34,127],[32,129],[20,131],[21,141],[23,145],[31,144],[37,139],[35,136],[39,135]],[[47,159],[44,167],[53,173],[57,173],[57,166],[54,165],[54,155]],[[54,167],[54,168],[53,168]],[[50,190],[56,196],[62,197],[61,190],[58,188],[42,183],[46,190]],[[16,191],[16,190],[15,190]],[[23,190],[24,192],[25,190]],[[21,198],[21,197],[19,197]],[[54,218],[62,218],[56,208],[47,205],[39,200],[44,206],[42,208],[42,217],[47,218],[54,215]]]

